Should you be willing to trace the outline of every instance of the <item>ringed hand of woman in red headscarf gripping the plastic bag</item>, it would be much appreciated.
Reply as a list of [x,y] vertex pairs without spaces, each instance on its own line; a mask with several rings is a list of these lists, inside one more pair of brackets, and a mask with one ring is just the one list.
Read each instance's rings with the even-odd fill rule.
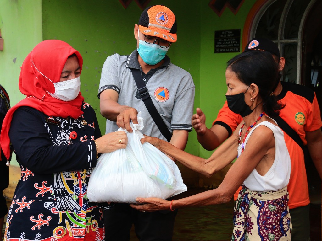
[[128,136],[124,131],[115,131],[95,139],[98,153],[109,153],[124,149],[128,144]]

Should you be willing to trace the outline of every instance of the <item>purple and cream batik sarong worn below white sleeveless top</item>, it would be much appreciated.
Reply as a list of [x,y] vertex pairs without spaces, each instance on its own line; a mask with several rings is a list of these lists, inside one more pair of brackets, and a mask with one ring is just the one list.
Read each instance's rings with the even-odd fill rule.
[[235,208],[231,241],[290,241],[287,187],[276,192],[251,191],[244,185]]

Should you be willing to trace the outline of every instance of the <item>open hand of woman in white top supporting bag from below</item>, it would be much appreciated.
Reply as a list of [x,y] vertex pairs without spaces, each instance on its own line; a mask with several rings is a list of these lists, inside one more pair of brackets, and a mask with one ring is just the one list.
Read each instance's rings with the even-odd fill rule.
[[161,198],[137,198],[138,203],[143,204],[130,204],[131,208],[139,211],[153,212],[157,210],[169,210],[171,201],[163,200]]

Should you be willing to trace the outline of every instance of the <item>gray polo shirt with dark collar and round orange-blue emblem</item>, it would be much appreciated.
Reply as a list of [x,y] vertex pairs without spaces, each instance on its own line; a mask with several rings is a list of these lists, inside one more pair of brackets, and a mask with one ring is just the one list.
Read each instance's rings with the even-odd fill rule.
[[[137,112],[142,112],[141,117],[144,119],[142,134],[166,140],[137,93],[137,85],[130,68],[140,69],[152,102],[170,132],[172,130],[191,131],[195,88],[191,75],[172,64],[167,56],[165,56],[162,66],[151,69],[145,75],[137,57],[137,50],[134,50],[129,56],[114,54],[106,59],[99,82],[98,97],[107,89],[117,91],[119,104],[133,107]],[[116,130],[118,130],[116,122],[107,120],[106,133]]]

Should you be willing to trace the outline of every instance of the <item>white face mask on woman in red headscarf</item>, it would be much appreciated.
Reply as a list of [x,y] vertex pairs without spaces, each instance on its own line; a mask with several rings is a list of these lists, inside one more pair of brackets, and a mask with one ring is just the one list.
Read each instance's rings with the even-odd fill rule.
[[52,97],[62,101],[72,101],[81,90],[81,79],[70,79],[63,82],[54,83],[55,93],[49,93]]

